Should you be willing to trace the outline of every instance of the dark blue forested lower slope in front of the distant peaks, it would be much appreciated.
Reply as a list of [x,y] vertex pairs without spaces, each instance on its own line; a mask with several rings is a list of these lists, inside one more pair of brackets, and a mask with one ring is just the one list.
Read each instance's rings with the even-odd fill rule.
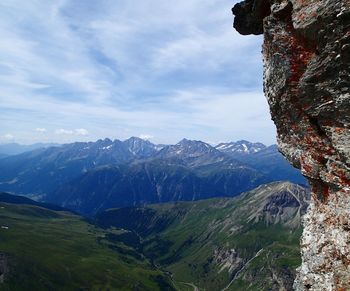
[[105,166],[59,187],[46,201],[91,216],[113,207],[232,197],[268,181],[247,167],[206,171],[164,160]]

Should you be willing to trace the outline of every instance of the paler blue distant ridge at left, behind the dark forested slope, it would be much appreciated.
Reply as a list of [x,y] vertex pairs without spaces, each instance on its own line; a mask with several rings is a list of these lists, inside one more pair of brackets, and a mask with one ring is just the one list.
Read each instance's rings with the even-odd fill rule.
[[49,193],[96,167],[125,164],[156,151],[155,145],[135,137],[124,142],[106,138],[36,149],[1,159],[0,190]]

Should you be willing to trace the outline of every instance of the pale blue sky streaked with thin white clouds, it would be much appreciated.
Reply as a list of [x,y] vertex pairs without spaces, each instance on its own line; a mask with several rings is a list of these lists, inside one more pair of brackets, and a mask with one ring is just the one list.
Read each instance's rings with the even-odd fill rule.
[[275,143],[227,0],[2,0],[0,143]]

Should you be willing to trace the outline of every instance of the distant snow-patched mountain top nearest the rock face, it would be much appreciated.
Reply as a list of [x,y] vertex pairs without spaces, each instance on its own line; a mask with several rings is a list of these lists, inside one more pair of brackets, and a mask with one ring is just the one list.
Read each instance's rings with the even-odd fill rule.
[[215,148],[223,153],[235,155],[235,154],[254,154],[266,148],[266,146],[260,142],[249,142],[246,140],[239,140],[236,142],[220,143]]

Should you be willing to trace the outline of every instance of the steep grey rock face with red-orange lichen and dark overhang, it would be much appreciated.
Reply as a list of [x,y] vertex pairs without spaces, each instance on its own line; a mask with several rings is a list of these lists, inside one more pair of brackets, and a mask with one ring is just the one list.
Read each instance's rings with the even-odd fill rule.
[[241,34],[264,34],[264,91],[280,151],[312,188],[297,290],[350,290],[350,1],[246,0]]

